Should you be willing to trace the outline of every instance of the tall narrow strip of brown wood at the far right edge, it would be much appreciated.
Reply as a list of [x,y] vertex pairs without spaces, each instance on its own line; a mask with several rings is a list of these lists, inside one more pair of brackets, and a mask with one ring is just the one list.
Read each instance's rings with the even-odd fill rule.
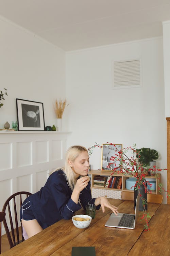
[[[167,120],[167,190],[170,191],[170,117]],[[167,198],[167,203],[170,204],[170,197]]]

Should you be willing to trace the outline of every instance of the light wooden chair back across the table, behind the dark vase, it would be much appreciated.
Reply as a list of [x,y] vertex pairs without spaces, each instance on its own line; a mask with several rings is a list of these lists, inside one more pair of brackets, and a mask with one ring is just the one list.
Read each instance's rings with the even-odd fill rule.
[[[121,192],[122,200],[134,200],[134,193],[130,191],[122,191]],[[147,194],[148,203],[162,203],[163,196],[160,194]]]

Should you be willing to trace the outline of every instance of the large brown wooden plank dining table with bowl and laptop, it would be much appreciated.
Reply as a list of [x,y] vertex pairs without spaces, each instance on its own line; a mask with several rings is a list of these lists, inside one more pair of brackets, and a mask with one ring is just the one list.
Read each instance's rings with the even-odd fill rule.
[[[133,201],[108,200],[119,208],[119,212],[134,213]],[[144,231],[142,212],[139,212],[135,229],[105,227],[111,213],[108,208],[104,213],[100,208],[85,229],[75,227],[71,219],[62,219],[2,253],[2,256],[71,256],[73,246],[94,246],[96,256],[170,256],[169,204],[148,203],[150,231]],[[81,209],[76,214],[85,214],[85,211]]]

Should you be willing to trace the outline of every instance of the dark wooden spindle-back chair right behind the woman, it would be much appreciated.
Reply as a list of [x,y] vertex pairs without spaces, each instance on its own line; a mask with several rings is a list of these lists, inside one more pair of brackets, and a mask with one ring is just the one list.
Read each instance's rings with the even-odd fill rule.
[[[18,228],[18,217],[17,216],[19,216],[20,208],[17,213],[16,202],[20,203],[20,207],[21,207],[22,202],[30,195],[32,195],[32,194],[30,192],[26,192],[26,191],[17,192],[15,194],[13,194],[12,196],[10,196],[3,205],[2,211],[6,213],[6,216],[3,219],[3,225],[4,225],[4,228],[6,231],[8,242],[10,244],[10,248],[12,248],[15,245],[19,244],[20,242],[24,241],[24,238],[22,236],[22,225],[21,225],[20,232],[19,232],[19,228]],[[6,222],[7,216],[10,219],[11,232],[10,232],[7,222]],[[16,233],[16,235],[15,235],[15,233]],[[19,238],[22,238],[22,240],[20,240]],[[16,242],[16,240],[17,240],[17,242]]]

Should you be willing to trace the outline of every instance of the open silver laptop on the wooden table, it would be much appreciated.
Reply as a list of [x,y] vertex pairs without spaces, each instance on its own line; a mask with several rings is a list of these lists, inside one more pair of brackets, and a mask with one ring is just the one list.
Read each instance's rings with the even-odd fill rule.
[[136,198],[135,214],[118,213],[118,215],[116,216],[114,213],[112,213],[105,226],[114,228],[134,229],[139,213],[139,199],[140,196],[138,194]]

